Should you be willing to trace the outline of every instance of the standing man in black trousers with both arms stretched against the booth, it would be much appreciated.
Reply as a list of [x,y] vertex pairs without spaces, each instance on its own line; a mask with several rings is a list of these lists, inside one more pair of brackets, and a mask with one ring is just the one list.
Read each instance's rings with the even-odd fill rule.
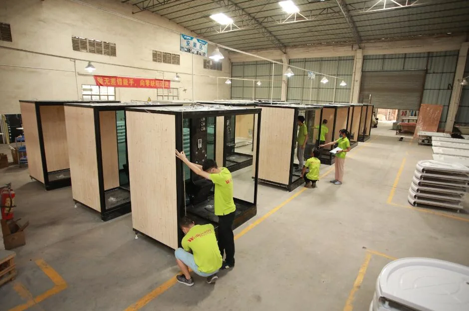
[[197,175],[215,184],[215,215],[218,216],[218,247],[220,254],[226,255],[220,270],[234,267],[234,212],[233,177],[226,167],[218,167],[217,162],[207,159],[204,165],[190,162],[184,151],[176,150],[176,156]]

